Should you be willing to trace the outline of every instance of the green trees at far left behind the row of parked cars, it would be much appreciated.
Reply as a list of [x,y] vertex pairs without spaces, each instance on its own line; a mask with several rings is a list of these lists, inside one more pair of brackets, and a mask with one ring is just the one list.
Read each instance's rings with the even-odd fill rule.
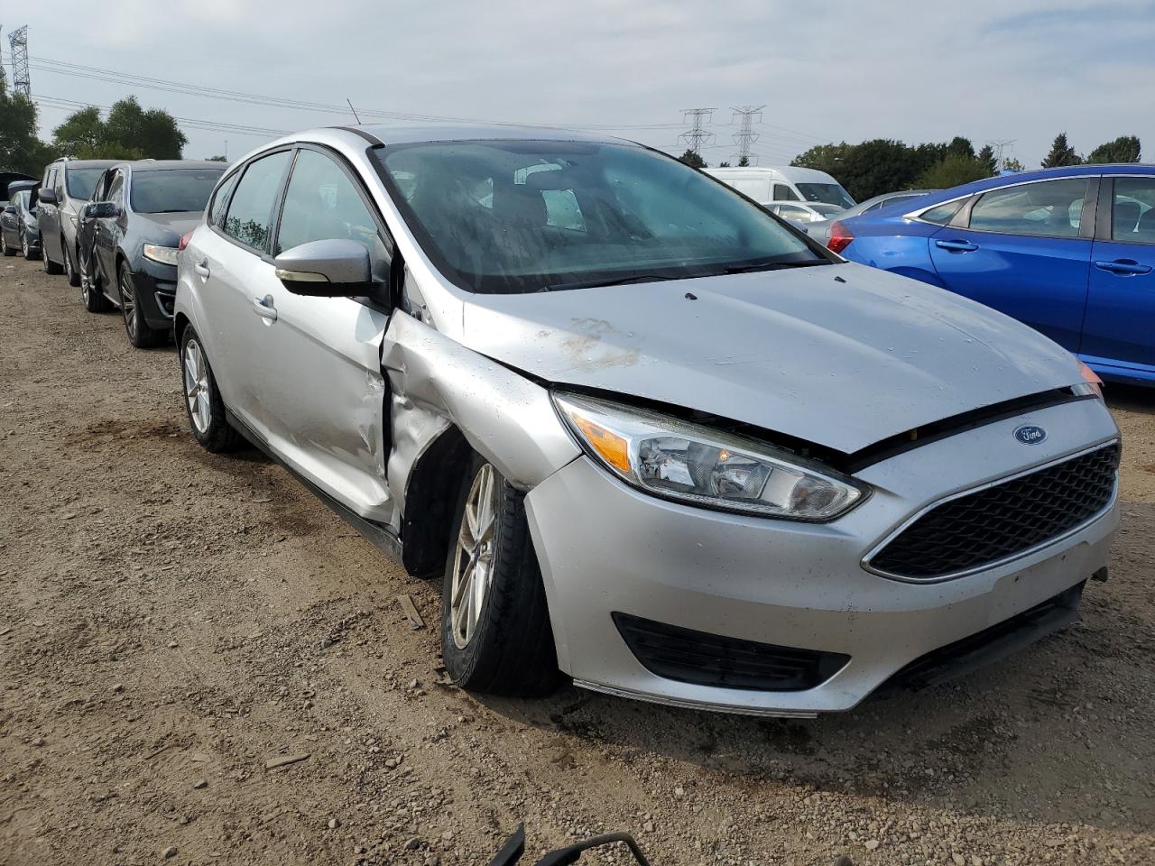
[[81,109],[52,132],[52,141],[37,135],[36,105],[8,90],[0,74],[0,171],[38,177],[61,156],[75,159],[180,159],[188,139],[163,109],[143,109],[129,96],[106,115],[96,107]]

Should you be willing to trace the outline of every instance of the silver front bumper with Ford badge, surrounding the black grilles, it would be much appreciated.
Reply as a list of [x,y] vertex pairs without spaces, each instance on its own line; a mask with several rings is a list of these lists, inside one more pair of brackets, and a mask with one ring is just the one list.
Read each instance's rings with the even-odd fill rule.
[[[1026,446],[1014,430],[1044,427]],[[1095,400],[999,420],[857,473],[873,487],[827,524],[691,508],[649,497],[588,457],[527,495],[560,667],[578,685],[664,703],[776,716],[856,706],[916,659],[1063,596],[1100,572],[1118,523],[1110,506],[1060,540],[963,577],[910,582],[869,572],[866,555],[906,520],[955,493],[1118,436]],[[1064,598],[1078,599],[1078,593]],[[842,654],[799,690],[731,688],[657,675],[614,614],[706,635]]]

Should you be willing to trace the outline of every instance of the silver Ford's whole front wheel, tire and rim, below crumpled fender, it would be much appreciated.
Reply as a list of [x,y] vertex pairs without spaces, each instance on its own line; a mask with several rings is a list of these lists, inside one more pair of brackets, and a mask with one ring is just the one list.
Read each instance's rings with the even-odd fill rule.
[[462,487],[441,599],[446,670],[472,692],[546,694],[557,655],[524,499],[479,455]]

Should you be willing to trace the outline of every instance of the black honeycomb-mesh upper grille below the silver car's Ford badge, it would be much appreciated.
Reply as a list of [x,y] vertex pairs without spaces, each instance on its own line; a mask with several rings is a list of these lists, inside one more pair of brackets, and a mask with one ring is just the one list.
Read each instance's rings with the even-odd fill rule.
[[1119,443],[936,506],[894,537],[871,568],[933,580],[1036,547],[1094,517],[1111,501]]

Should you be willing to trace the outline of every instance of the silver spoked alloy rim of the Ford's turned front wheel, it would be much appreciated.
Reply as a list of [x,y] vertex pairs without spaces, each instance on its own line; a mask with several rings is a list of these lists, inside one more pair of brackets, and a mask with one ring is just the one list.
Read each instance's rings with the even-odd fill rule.
[[498,514],[498,483],[493,466],[482,465],[465,498],[449,588],[449,630],[457,649],[477,633],[482,609],[493,582],[493,536]]

